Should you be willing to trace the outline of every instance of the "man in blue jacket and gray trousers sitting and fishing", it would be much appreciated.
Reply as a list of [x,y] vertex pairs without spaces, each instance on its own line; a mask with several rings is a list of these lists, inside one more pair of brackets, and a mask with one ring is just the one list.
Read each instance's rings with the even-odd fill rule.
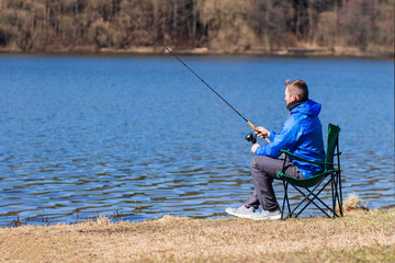
[[[279,219],[280,206],[273,191],[273,179],[283,168],[284,160],[278,159],[281,149],[313,161],[324,161],[323,129],[318,118],[321,105],[308,100],[308,89],[303,80],[285,81],[287,119],[276,134],[263,127],[255,133],[260,138],[269,138],[264,146],[255,144],[251,151],[256,155],[250,163],[255,191],[249,199],[238,208],[227,208],[230,215],[251,219]],[[305,179],[321,172],[323,168],[297,160],[287,160],[285,174]],[[258,211],[261,205],[262,210]]]

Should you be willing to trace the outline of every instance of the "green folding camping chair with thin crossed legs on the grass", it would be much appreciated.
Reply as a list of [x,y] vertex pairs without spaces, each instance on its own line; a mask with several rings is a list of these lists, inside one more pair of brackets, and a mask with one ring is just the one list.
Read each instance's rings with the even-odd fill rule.
[[[341,194],[341,170],[340,170],[340,155],[339,152],[339,133],[340,127],[329,124],[328,125],[328,142],[325,162],[315,162],[309,161],[304,158],[297,157],[286,150],[281,150],[285,153],[284,165],[281,172],[278,172],[278,178],[283,181],[284,185],[284,199],[281,210],[281,219],[285,220],[289,217],[297,217],[301,213],[311,204],[315,205],[319,210],[321,210],[327,217],[335,219],[339,217],[339,214],[342,216],[342,194]],[[309,179],[294,179],[284,174],[285,171],[285,160],[292,157],[294,160],[300,160],[308,163],[320,164],[324,167],[324,172],[309,178]],[[331,186],[331,206],[324,203],[318,195],[330,184]],[[290,199],[289,199],[289,185],[292,185],[297,192],[300,192],[304,198],[296,205],[296,207],[291,210]],[[302,206],[303,203],[306,203],[296,214],[297,209]],[[285,204],[287,206],[287,215],[284,217]],[[339,214],[336,213],[336,205],[338,204]],[[321,205],[321,206],[319,206]],[[332,217],[328,213],[332,213]]]

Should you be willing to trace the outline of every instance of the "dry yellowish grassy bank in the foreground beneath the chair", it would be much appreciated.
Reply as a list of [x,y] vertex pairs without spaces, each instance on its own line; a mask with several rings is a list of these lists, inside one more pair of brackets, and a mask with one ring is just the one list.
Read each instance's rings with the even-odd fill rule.
[[395,209],[255,221],[165,216],[0,229],[0,262],[394,262]]

